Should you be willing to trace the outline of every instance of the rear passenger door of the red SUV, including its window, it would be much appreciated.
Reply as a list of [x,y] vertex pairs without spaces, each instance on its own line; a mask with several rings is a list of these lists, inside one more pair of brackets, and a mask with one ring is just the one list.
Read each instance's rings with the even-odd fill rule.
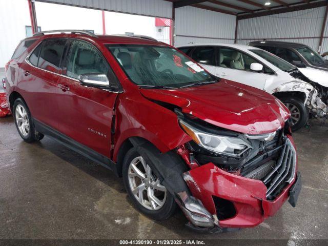
[[21,66],[19,88],[25,91],[33,118],[58,130],[57,87],[67,39],[46,39]]

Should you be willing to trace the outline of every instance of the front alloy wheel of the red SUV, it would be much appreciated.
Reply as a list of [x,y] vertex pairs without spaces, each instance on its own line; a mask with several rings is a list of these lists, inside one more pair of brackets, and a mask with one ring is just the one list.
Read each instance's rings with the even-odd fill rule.
[[132,194],[146,209],[161,209],[167,198],[167,189],[160,184],[144,158],[134,158],[129,166],[128,180]]

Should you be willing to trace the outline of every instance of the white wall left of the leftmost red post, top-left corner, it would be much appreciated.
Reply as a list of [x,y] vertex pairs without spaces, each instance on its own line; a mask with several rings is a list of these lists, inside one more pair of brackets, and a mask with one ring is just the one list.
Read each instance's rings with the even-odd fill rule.
[[0,0],[0,68],[5,67],[20,40],[26,37],[25,26],[31,26],[26,0]]

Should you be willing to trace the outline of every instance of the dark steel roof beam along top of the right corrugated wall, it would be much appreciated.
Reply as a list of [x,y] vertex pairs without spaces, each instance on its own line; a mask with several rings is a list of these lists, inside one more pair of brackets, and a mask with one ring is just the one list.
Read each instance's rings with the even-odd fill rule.
[[302,5],[296,5],[296,6],[290,6],[289,8],[279,8],[279,9],[272,9],[270,11],[262,11],[262,12],[256,12],[253,14],[243,14],[238,15],[238,19],[249,19],[249,18],[255,18],[255,17],[261,17],[261,16],[267,16],[272,14],[282,14],[282,13],[289,13],[293,11],[299,11],[299,10],[305,10],[305,9],[313,9],[318,7],[326,6],[327,1],[321,1],[321,2],[314,2],[309,4],[302,4]]

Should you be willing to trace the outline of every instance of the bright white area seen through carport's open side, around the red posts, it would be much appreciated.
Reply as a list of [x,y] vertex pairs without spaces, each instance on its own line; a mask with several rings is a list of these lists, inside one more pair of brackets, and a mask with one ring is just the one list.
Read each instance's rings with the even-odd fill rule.
[[[103,17],[100,10],[43,2],[35,2],[35,10],[37,25],[43,31],[78,29],[103,34]],[[107,34],[133,32],[170,43],[170,28],[162,28],[162,33],[158,33],[154,17],[106,11],[105,21]],[[19,41],[27,37],[25,26],[31,26],[28,1],[0,0],[0,23],[2,68],[12,56]]]

